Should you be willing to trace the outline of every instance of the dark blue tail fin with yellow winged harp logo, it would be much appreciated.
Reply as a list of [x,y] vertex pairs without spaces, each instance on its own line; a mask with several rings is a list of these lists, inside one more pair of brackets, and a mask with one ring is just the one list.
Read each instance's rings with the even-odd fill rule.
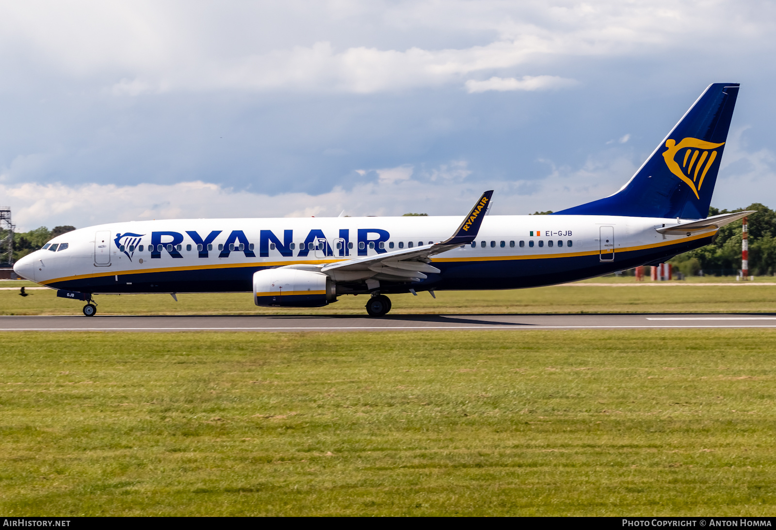
[[739,84],[708,85],[698,101],[617,193],[563,215],[708,216]]

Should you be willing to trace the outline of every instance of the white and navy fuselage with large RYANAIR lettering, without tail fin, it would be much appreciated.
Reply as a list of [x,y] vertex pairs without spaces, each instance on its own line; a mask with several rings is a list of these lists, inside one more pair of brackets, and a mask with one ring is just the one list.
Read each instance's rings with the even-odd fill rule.
[[[334,263],[438,243],[460,217],[171,219],[68,232],[16,264],[29,280],[84,293],[251,291],[257,270]],[[383,292],[560,284],[666,260],[711,242],[715,229],[663,236],[677,219],[488,215],[474,244],[433,256],[441,270]],[[59,250],[61,243],[67,248]],[[57,245],[57,251],[49,249]],[[357,287],[338,294],[359,292]]]

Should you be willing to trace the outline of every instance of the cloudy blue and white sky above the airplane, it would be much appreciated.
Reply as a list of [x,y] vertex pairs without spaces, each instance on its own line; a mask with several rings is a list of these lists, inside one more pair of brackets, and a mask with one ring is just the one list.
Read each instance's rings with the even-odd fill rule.
[[133,219],[559,210],[740,82],[712,205],[776,207],[773,2],[0,2],[0,203]]

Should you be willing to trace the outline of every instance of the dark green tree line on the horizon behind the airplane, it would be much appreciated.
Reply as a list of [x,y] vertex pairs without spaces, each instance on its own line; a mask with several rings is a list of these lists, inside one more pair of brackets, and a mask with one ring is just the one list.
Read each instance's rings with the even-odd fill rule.
[[[735,210],[720,210],[711,208],[708,215],[743,212],[756,210],[749,216],[749,270],[755,276],[773,275],[776,273],[776,212],[759,202],[747,208]],[[535,212],[534,215],[547,215],[552,212]],[[427,215],[427,214],[405,214]],[[711,245],[704,246],[688,253],[680,254],[670,260],[685,276],[703,274],[728,276],[737,274],[741,268],[741,221],[733,222],[719,229],[719,235]],[[74,230],[74,226],[55,226],[47,229],[45,226],[17,232],[13,235],[14,260],[40,249],[50,239]],[[2,234],[0,234],[2,239]]]

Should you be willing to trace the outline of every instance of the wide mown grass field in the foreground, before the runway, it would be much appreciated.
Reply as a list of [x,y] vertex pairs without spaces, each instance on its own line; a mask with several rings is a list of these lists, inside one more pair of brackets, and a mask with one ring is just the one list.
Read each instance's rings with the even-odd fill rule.
[[776,515],[769,330],[0,339],[4,515]]

